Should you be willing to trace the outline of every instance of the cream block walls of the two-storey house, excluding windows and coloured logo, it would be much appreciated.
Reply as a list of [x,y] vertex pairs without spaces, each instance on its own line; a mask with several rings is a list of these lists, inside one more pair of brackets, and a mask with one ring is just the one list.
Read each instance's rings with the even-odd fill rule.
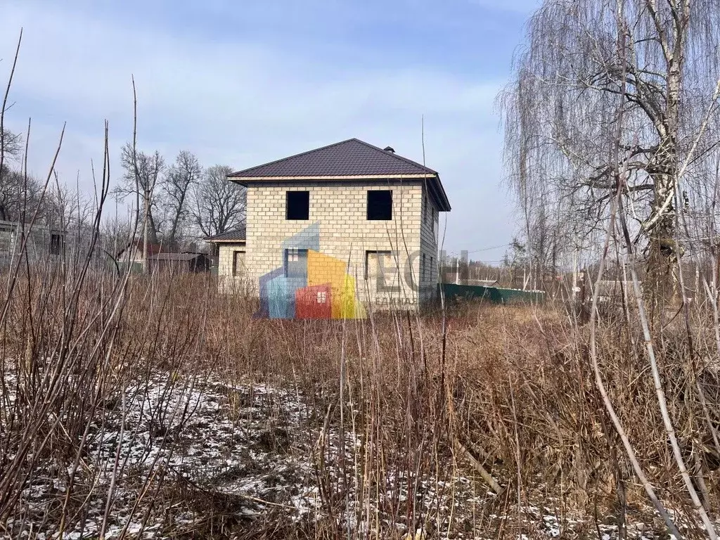
[[[371,189],[392,189],[392,220],[366,219],[367,191]],[[310,217],[307,221],[285,219],[287,191],[310,192]],[[409,283],[419,276],[421,231],[423,250],[432,252],[433,260],[437,258],[437,244],[422,226],[422,201],[422,181],[392,184],[314,182],[302,186],[266,182],[250,184],[246,239],[248,279],[257,284],[260,276],[282,267],[283,241],[319,223],[320,253],[349,262],[348,274],[356,278],[361,300],[365,300],[369,293],[372,300],[379,304],[397,302],[417,305],[419,300],[428,297],[430,289],[436,287],[436,281],[425,282],[422,294],[418,294],[417,287],[413,289]],[[400,291],[377,292],[375,282],[365,279],[366,251],[395,253],[400,262],[400,274],[404,277],[400,280]],[[228,272],[227,265],[222,263],[222,252],[219,272],[220,275]],[[430,275],[428,273],[428,278]],[[432,275],[436,276],[436,271]],[[405,276],[410,279],[405,279]]]

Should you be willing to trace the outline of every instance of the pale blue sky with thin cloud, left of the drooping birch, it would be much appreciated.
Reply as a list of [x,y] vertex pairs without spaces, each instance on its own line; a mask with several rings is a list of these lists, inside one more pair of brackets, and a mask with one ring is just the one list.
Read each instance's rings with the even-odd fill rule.
[[[453,210],[446,249],[508,243],[495,96],[536,0],[2,0],[0,81],[23,45],[7,125],[32,117],[29,166],[91,189],[110,123],[113,179],[132,137],[168,161],[246,168],[351,137],[426,162]],[[498,260],[504,248],[473,258]]]

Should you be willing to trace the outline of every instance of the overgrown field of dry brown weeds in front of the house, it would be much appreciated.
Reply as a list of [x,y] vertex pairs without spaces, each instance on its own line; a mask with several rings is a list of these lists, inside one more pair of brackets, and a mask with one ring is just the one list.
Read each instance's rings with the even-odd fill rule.
[[[4,537],[667,537],[598,394],[588,327],[563,306],[255,320],[210,276],[74,268],[3,276]],[[654,338],[717,521],[705,309]],[[633,310],[600,313],[597,343],[644,474],[680,531],[705,536]]]

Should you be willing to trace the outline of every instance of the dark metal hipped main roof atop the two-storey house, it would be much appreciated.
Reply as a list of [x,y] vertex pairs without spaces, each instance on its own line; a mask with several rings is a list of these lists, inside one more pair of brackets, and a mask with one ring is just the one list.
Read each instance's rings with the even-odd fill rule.
[[426,177],[440,210],[450,210],[437,171],[359,139],[343,140],[289,158],[246,168],[228,175],[228,178],[245,184],[248,181],[343,179],[348,176],[370,179],[382,179],[384,176]]

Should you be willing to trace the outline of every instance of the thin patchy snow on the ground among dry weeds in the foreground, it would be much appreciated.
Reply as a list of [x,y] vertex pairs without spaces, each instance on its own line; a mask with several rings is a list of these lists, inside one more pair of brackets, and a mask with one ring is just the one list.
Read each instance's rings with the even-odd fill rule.
[[[58,538],[63,506],[72,540],[202,535],[211,519],[246,530],[330,520],[357,537],[392,530],[413,540],[618,537],[608,516],[564,516],[552,498],[505,505],[451,458],[437,474],[394,462],[383,477],[366,472],[376,449],[347,426],[341,437],[325,413],[293,389],[155,374],[106,400],[77,469],[50,459],[33,472],[1,537]],[[628,536],[658,530],[629,523]]]

